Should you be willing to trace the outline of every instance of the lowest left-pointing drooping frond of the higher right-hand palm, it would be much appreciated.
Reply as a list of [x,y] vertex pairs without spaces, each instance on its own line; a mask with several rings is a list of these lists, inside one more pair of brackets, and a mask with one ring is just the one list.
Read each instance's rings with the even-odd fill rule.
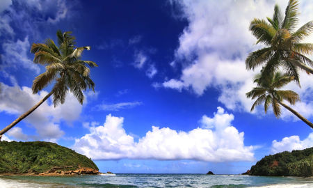
[[271,47],[264,47],[255,52],[252,52],[246,58],[246,69],[255,70],[259,65],[262,65],[272,55]]

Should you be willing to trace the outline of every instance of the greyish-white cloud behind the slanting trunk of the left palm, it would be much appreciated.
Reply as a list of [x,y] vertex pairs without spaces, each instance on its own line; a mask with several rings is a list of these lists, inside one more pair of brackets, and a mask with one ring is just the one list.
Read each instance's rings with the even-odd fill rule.
[[[47,91],[42,91],[34,95],[29,87],[24,86],[19,88],[19,86],[8,86],[3,83],[1,84],[1,88],[0,112],[17,116],[28,111],[48,94]],[[24,120],[35,128],[38,135],[33,137],[56,142],[64,134],[60,128],[61,120],[65,120],[67,123],[77,120],[81,109],[82,106],[77,102],[77,99],[71,93],[67,93],[64,104],[60,104],[54,108],[54,104],[51,104],[48,100]],[[22,130],[15,129],[10,134],[17,136],[17,133],[22,133]],[[19,134],[19,136],[21,135],[23,134]]]

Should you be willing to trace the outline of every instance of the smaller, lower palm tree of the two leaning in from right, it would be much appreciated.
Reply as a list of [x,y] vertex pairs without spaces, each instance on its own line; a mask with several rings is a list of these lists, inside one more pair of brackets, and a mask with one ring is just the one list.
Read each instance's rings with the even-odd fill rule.
[[277,118],[280,117],[280,105],[291,113],[294,113],[300,120],[303,120],[304,123],[313,128],[313,124],[300,115],[300,113],[296,112],[291,107],[287,106],[282,102],[283,100],[287,100],[290,104],[295,104],[300,100],[300,97],[297,93],[290,90],[277,90],[282,88],[283,86],[289,84],[290,81],[293,81],[294,77],[290,77],[287,74],[282,74],[281,72],[275,72],[267,77],[262,77],[261,74],[257,75],[255,79],[255,83],[257,83],[257,87],[252,88],[252,91],[246,93],[248,98],[252,98],[255,102],[252,104],[251,111],[255,109],[255,107],[264,102],[264,111],[265,113],[268,110],[268,107],[272,105],[273,113]]

